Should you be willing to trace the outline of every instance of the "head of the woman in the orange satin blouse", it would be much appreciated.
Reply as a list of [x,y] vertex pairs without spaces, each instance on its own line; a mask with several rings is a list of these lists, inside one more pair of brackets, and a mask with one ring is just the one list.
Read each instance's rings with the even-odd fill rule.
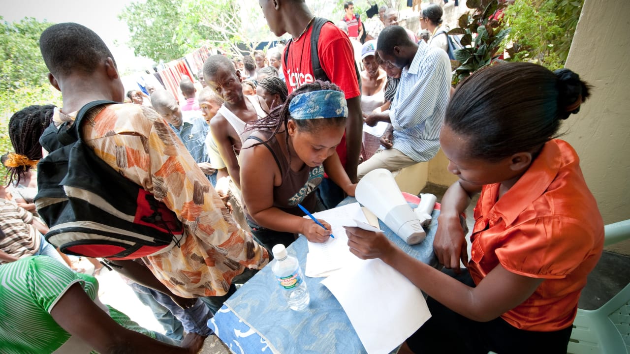
[[[440,143],[449,171],[466,180],[466,165],[484,161],[507,168],[506,176],[508,169],[522,173],[588,96],[589,86],[568,69],[515,62],[474,73],[459,85],[445,114]],[[500,181],[481,180],[470,182]]]

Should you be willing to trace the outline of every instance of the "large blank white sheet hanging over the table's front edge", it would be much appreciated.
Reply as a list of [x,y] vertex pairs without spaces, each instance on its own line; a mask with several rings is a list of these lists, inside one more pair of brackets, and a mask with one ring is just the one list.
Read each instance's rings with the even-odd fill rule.
[[353,262],[321,283],[343,307],[368,354],[391,352],[431,317],[420,289],[379,259]]

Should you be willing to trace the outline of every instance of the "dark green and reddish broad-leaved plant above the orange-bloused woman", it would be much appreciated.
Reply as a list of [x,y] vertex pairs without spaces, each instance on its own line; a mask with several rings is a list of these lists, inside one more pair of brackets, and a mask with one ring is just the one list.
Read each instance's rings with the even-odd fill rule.
[[455,50],[455,60],[451,66],[455,70],[453,84],[490,65],[501,49],[503,41],[510,33],[505,22],[496,14],[505,8],[498,0],[467,0],[469,13],[460,16],[459,27],[449,31],[449,35],[462,35],[461,43],[465,47]]

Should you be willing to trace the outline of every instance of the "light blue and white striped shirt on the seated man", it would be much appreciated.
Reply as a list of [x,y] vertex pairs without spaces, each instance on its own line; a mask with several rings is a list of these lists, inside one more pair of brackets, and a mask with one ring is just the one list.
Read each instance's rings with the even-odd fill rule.
[[420,41],[403,69],[389,118],[394,149],[414,161],[429,161],[440,149],[440,128],[450,95],[450,60],[444,50]]

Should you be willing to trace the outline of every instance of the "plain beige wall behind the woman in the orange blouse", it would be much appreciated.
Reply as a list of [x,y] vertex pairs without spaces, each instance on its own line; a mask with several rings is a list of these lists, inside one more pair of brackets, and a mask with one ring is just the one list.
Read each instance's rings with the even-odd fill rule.
[[575,147],[604,223],[630,219],[630,3],[585,0],[566,67],[594,86],[561,129]]

